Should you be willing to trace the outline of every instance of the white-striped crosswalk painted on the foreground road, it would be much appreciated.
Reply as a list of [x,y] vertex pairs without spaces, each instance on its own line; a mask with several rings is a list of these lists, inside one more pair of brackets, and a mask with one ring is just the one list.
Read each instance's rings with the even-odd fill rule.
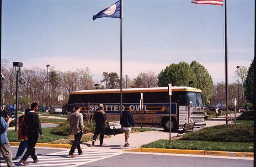
[[[33,163],[33,159],[29,157],[27,162],[33,167],[77,167],[86,163],[95,162],[108,157],[123,154],[122,152],[95,152],[84,150],[82,155],[75,155],[75,158],[69,157],[69,150],[54,152],[48,155],[37,156],[38,163]],[[23,166],[19,161],[13,161],[16,166]],[[1,159],[1,167],[7,167],[5,160]]]

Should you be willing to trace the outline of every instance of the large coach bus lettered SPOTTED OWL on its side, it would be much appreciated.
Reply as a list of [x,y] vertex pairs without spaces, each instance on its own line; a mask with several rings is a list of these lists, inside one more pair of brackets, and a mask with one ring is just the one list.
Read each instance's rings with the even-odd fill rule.
[[[143,110],[140,111],[140,98],[143,93]],[[194,127],[204,127],[204,107],[200,89],[186,86],[172,86],[171,130],[188,122]],[[135,126],[170,128],[168,87],[123,89],[123,111],[132,107]],[[81,106],[81,112],[94,111],[98,105],[104,105],[109,121],[120,120],[120,89],[86,90],[70,93],[68,111],[74,112],[75,106]]]

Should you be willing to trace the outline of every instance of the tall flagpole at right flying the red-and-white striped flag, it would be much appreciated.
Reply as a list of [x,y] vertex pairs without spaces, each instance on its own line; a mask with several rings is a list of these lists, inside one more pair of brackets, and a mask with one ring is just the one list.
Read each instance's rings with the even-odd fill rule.
[[228,33],[227,33],[227,0],[225,0],[225,93],[226,93],[226,125],[228,125]]

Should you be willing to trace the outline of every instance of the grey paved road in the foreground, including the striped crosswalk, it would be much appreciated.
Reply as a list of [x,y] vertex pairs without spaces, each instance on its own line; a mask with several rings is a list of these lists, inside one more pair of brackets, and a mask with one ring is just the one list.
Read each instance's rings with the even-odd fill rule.
[[[13,156],[18,147],[12,147]],[[111,150],[92,151],[83,149],[84,154],[71,158],[69,149],[36,147],[40,162],[31,167],[253,167],[253,158],[182,155],[164,153],[115,152]],[[16,166],[22,166],[14,161]],[[1,157],[1,167],[6,167]]]

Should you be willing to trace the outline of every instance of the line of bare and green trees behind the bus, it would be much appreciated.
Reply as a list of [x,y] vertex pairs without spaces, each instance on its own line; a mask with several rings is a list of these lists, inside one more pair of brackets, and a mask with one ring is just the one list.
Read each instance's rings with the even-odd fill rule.
[[[240,69],[245,70],[244,73],[239,73],[240,78],[246,78],[246,68]],[[5,76],[5,80],[1,80],[1,106],[16,103],[16,70],[12,63],[5,59],[1,60],[1,72]],[[46,69],[21,67],[18,90],[19,107],[29,107],[33,101],[38,102],[39,105],[47,106],[47,100],[49,106],[62,106],[67,103],[72,91],[120,88],[120,78],[116,72],[103,71],[102,78],[102,81],[94,81],[93,74],[88,67],[65,72],[56,71],[54,67],[50,67],[48,75]],[[172,86],[192,86],[201,89],[204,104],[224,103],[225,101],[225,84],[221,82],[213,85],[212,77],[208,71],[196,61],[192,61],[191,64],[186,62],[171,64],[158,75],[153,71],[144,71],[140,72],[134,79],[127,76],[123,77],[123,88],[162,87],[167,86],[168,83],[172,83]],[[245,83],[242,84],[241,82],[239,100],[246,105],[244,88]],[[235,83],[229,84],[230,106],[232,106],[233,97],[237,97],[237,85],[235,86]]]

